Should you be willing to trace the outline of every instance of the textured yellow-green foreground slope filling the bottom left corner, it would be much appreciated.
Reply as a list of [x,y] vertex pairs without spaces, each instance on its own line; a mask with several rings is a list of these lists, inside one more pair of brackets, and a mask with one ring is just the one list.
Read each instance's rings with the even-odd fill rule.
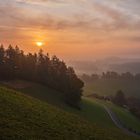
[[135,140],[45,102],[0,87],[0,139]]

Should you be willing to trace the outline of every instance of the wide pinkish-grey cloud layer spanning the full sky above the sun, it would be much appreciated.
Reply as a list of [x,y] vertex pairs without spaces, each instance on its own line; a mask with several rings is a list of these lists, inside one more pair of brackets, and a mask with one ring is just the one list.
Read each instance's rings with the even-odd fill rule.
[[[70,0],[16,0],[18,2],[70,2]],[[87,4],[89,1],[78,0],[79,2],[84,2]],[[113,1],[113,0],[110,0]],[[139,21],[134,21],[133,17],[128,13],[125,13],[122,9],[114,7],[113,5],[108,5],[106,3],[101,3],[93,1],[90,3],[92,5],[85,5],[84,8],[89,8],[87,12],[79,12],[77,8],[77,13],[72,12],[71,15],[62,16],[61,13],[57,11],[52,12],[51,7],[49,11],[48,7],[42,8],[42,6],[23,6],[12,5],[0,6],[0,19],[1,25],[7,25],[11,27],[26,27],[26,28],[41,28],[41,29],[82,29],[82,30],[124,30],[124,29],[139,29]],[[78,7],[78,5],[77,5]],[[61,7],[63,8],[63,7]],[[71,8],[71,7],[70,7]],[[73,7],[72,7],[73,8]],[[8,10],[7,10],[8,9]],[[58,8],[59,10],[59,8]],[[61,9],[62,10],[62,9]],[[65,9],[64,9],[65,10]],[[10,11],[10,12],[9,12]],[[63,11],[63,10],[62,10]],[[73,10],[72,10],[73,11]],[[79,14],[80,13],[80,14]],[[96,15],[96,13],[98,13]],[[91,16],[90,16],[91,15]],[[131,20],[130,20],[131,19]]]

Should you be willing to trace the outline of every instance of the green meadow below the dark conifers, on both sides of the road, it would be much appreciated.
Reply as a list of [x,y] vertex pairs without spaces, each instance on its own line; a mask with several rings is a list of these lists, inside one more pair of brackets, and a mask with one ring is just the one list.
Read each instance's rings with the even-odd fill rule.
[[[26,85],[26,81],[17,82],[21,83],[21,85]],[[12,81],[10,83],[12,83]],[[13,85],[11,86],[9,84],[4,86],[13,88]],[[130,112],[126,111],[125,109],[119,108],[111,103],[106,103],[97,99],[87,98],[83,96],[80,103],[81,110],[77,110],[69,107],[63,102],[63,98],[60,92],[57,92],[56,90],[42,86],[40,84],[30,83],[29,86],[23,86],[22,88],[18,88],[15,90],[18,92],[22,92],[23,94],[16,93],[16,91],[13,90],[8,90],[8,92],[12,91],[12,93],[14,92],[14,94],[18,96],[20,95],[24,98],[35,100],[36,102],[43,104],[43,106],[45,106],[46,104],[51,107],[54,106],[54,108],[61,110],[62,112],[67,112],[70,115],[77,116],[79,119],[86,121],[86,123],[89,123],[92,127],[96,127],[99,130],[101,129],[103,131],[102,133],[107,130],[107,133],[115,132],[119,133],[119,135],[123,134],[127,136],[127,134],[124,134],[122,130],[115,126],[110,116],[104,109],[104,104],[111,108],[111,110],[116,114],[116,116],[128,128],[133,128],[137,131],[140,130],[140,121],[136,117],[134,117]],[[135,138],[133,137],[133,139]]]

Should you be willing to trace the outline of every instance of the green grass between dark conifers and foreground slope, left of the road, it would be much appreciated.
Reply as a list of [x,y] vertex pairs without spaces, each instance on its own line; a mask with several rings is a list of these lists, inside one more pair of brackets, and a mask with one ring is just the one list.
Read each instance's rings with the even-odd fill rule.
[[42,101],[47,101],[65,111],[75,113],[93,124],[98,124],[106,128],[116,128],[104,108],[98,102],[93,102],[87,98],[83,98],[81,102],[82,109],[77,110],[64,104],[59,92],[47,87],[36,84],[28,88],[20,89],[20,91]]

